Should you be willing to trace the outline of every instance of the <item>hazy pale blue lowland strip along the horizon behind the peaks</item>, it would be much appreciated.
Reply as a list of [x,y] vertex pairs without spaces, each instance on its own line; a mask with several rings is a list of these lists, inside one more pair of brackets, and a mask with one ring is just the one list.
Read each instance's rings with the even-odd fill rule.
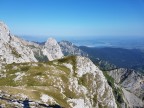
[[[46,41],[47,36],[21,36],[28,41],[43,43]],[[77,46],[86,47],[110,47],[110,48],[124,48],[124,49],[141,49],[144,50],[144,37],[142,36],[78,36],[76,39],[72,36],[56,37],[57,41],[67,40]],[[75,36],[76,37],[76,36]]]

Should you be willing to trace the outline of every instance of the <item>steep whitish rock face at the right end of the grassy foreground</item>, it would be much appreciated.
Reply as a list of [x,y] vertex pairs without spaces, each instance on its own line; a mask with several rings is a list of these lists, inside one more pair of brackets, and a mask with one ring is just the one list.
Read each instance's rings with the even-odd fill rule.
[[[86,91],[84,91],[89,99],[86,104],[90,104],[88,108],[105,106],[107,108],[117,108],[115,98],[113,96],[112,88],[108,85],[103,72],[93,64],[93,62],[86,58],[77,56],[76,57],[76,74],[78,81],[82,79],[83,86],[87,86]],[[73,84],[75,85],[75,84]],[[76,89],[76,87],[74,87]],[[82,87],[83,88],[83,87]],[[77,90],[82,91],[82,90]],[[95,103],[94,100],[97,100]]]

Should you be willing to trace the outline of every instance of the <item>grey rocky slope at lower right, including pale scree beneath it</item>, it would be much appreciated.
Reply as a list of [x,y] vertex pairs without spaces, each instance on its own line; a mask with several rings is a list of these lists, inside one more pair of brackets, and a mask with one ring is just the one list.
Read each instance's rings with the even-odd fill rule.
[[122,86],[129,107],[143,107],[144,76],[134,70],[119,68],[107,72],[115,82]]

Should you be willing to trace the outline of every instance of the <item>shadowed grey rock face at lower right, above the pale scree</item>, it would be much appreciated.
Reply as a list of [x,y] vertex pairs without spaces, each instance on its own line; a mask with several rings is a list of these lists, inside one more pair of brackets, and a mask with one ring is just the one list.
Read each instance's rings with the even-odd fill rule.
[[144,76],[131,69],[115,69],[108,72],[116,83],[120,83],[125,89],[131,91],[141,99],[144,97]]

